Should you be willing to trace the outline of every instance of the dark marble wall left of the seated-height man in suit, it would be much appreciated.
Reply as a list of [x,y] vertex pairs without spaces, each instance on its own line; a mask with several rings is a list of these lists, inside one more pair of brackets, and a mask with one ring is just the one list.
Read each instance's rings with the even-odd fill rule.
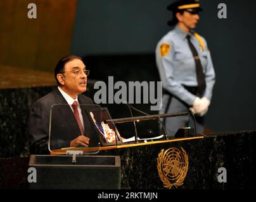
[[0,157],[29,155],[29,110],[51,89],[51,86],[45,86],[0,90]]

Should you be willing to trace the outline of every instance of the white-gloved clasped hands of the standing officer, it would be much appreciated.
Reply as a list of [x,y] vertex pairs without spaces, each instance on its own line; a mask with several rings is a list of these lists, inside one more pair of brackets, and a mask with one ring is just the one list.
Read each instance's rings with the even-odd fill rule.
[[190,107],[189,110],[191,110],[193,114],[204,116],[208,111],[209,105],[210,100],[208,100],[206,97],[201,99],[196,97],[195,101],[193,102],[193,107]]

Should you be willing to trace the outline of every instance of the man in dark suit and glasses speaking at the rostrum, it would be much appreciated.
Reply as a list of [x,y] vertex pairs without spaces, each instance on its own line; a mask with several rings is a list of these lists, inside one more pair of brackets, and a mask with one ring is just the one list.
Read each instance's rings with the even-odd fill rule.
[[30,153],[49,153],[49,128],[51,150],[98,145],[98,136],[87,114],[93,101],[80,95],[86,92],[88,74],[89,70],[80,57],[67,56],[60,59],[54,69],[58,86],[37,100],[30,112]]

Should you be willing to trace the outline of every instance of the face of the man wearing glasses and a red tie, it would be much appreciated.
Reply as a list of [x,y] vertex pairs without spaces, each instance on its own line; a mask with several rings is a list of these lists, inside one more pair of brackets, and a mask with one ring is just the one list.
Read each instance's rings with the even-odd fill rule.
[[61,87],[71,97],[75,98],[80,93],[86,92],[87,76],[84,73],[86,66],[80,59],[73,59],[65,64],[62,74]]

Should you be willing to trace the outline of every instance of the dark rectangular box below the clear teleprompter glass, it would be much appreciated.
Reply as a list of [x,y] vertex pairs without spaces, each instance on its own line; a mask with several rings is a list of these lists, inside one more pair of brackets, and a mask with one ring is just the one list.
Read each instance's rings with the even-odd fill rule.
[[31,155],[37,182],[30,189],[120,189],[120,157]]

